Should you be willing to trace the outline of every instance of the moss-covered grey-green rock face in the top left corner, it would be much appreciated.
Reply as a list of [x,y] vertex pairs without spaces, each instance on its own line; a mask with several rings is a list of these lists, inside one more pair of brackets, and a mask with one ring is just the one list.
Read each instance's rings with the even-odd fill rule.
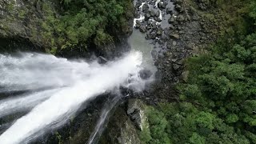
[[0,6],[0,38],[23,38],[52,48],[54,35],[46,33],[44,23],[50,14],[58,17],[58,0],[2,0]]

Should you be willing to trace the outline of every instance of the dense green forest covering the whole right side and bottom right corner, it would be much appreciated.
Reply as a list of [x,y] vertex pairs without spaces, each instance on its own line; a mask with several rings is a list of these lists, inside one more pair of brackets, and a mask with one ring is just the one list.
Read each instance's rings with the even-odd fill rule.
[[178,85],[181,102],[147,108],[144,143],[256,143],[255,2],[245,3],[242,13],[243,26],[229,27],[233,34],[188,59],[188,81]]

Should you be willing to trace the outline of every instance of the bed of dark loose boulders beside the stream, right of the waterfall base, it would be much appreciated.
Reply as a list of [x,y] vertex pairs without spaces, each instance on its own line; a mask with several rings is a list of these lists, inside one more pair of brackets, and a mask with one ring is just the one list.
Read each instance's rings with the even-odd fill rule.
[[175,95],[175,92],[170,94],[173,86],[180,81],[186,82],[186,58],[196,56],[203,47],[214,42],[214,36],[204,26],[209,22],[183,0],[138,1],[135,8],[134,30],[139,30],[154,46],[151,55],[158,69],[157,84],[142,97],[148,97],[144,99],[150,102],[158,102],[161,98],[171,100]]

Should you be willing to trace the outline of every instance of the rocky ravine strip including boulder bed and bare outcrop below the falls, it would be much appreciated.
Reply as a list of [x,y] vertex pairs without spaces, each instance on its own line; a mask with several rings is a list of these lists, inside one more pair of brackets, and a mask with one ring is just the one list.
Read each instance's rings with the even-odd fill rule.
[[[154,2],[134,2],[136,19],[129,42],[133,42],[131,46],[137,46],[137,42],[142,45],[139,50],[150,52],[157,68],[156,82],[118,106],[99,143],[140,143],[140,134],[146,130],[143,126],[148,126],[145,106],[178,101],[174,86],[177,82],[186,82],[189,73],[184,71],[184,61],[198,54],[199,47],[214,42],[215,37],[210,37],[208,29],[202,27],[209,23],[198,14],[191,1],[158,1],[160,6]],[[162,14],[162,21],[158,23],[154,15],[157,11]],[[154,20],[150,20],[152,18]]]

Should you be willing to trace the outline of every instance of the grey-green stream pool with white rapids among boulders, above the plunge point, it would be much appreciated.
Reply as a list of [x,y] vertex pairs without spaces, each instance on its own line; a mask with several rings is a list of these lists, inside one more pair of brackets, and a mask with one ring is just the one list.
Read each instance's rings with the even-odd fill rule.
[[[156,38],[151,39],[147,38],[146,35],[150,34],[154,30],[146,30],[146,33],[143,34],[143,32],[140,32],[138,30],[138,27],[136,28],[136,21],[141,22],[142,26],[148,26],[152,24],[153,22],[156,23],[156,26],[158,28],[161,28],[162,30],[168,29],[170,26],[170,23],[168,22],[168,19],[170,18],[170,14],[166,14],[166,10],[161,10],[158,8],[158,2],[163,2],[160,0],[134,0],[134,6],[135,6],[135,13],[138,15],[138,18],[134,18],[134,31],[130,35],[130,38],[128,42],[130,43],[130,46],[133,50],[139,50],[142,51],[143,59],[142,59],[142,65],[145,66],[147,69],[151,70],[152,72],[156,72],[157,68],[154,66],[154,58],[158,55],[162,55],[163,52],[166,51],[166,46],[159,46],[158,42],[162,38],[161,35],[157,35]],[[171,10],[174,10],[174,4],[172,1],[166,1],[166,7],[169,7]],[[139,5],[139,6],[138,6]],[[149,10],[157,12],[159,11],[159,17],[161,19],[161,22],[156,22],[154,18],[150,17],[148,20],[145,20],[145,12],[143,12],[142,7],[143,5],[149,6]],[[149,13],[149,12],[147,12]],[[174,16],[174,15],[173,15]],[[164,32],[163,32],[164,33]],[[164,34],[163,34],[164,35]],[[153,57],[153,58],[152,58]]]

